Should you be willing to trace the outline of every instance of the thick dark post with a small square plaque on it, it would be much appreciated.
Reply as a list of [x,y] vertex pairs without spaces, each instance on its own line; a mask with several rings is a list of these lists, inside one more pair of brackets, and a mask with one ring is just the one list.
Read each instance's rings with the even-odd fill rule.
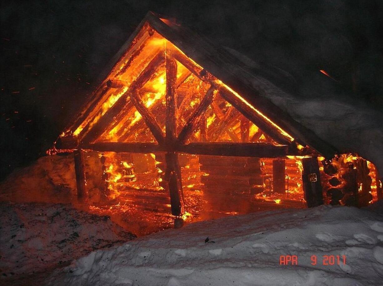
[[302,166],[303,191],[307,206],[312,208],[314,206],[323,205],[321,175],[319,174],[318,158],[303,158]]

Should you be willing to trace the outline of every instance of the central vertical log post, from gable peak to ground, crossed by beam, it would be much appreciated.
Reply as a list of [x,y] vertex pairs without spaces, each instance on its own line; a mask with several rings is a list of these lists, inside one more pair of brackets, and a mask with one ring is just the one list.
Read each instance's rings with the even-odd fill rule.
[[[177,63],[173,58],[172,50],[166,48],[166,137],[165,145],[169,148],[177,143]],[[178,155],[175,152],[165,154],[166,171],[165,180],[169,184],[170,204],[172,214],[180,216],[183,213],[183,193],[181,167]]]

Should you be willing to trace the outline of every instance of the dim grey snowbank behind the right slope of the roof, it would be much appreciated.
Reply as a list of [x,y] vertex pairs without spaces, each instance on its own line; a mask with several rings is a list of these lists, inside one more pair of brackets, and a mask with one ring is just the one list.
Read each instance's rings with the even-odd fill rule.
[[262,90],[263,96],[340,152],[358,153],[383,174],[383,110],[373,109],[355,96],[352,99],[326,94],[315,86],[309,91],[301,90],[300,96],[275,86],[270,88],[272,84],[268,80],[249,72],[259,68],[256,62],[236,50],[226,49],[242,63],[243,69],[236,72],[246,78],[250,86]]

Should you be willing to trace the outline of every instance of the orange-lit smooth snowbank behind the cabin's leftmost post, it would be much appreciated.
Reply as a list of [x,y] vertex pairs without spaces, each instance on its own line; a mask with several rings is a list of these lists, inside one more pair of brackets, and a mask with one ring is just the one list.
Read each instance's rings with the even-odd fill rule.
[[[98,200],[101,185],[100,159],[96,152],[85,158],[87,188],[91,200]],[[18,203],[72,203],[77,205],[73,154],[44,156],[28,167],[15,169],[0,183],[0,201]]]

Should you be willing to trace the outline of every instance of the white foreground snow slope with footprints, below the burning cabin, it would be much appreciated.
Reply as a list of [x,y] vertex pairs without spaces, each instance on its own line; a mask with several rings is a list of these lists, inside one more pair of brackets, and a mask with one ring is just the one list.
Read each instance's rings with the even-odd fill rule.
[[[96,250],[56,270],[47,284],[381,285],[381,207],[319,206],[194,223]],[[280,255],[297,255],[298,265],[280,265]],[[323,255],[340,255],[340,265],[337,258],[323,265]]]

